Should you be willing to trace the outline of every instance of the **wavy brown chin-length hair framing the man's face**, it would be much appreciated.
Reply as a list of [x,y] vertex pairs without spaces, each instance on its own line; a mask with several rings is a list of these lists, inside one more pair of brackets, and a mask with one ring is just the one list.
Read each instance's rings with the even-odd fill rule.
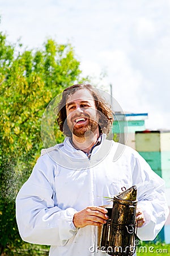
[[96,109],[99,111],[100,117],[99,117],[99,131],[100,133],[109,134],[112,123],[114,121],[113,119],[113,112],[111,107],[105,102],[105,100],[99,95],[99,92],[96,88],[92,87],[90,84],[75,84],[72,85],[65,90],[63,90],[62,93],[62,99],[59,102],[57,108],[55,109],[55,112],[57,110],[57,122],[59,125],[59,130],[63,132],[64,135],[67,137],[71,137],[71,131],[69,127],[67,126],[66,118],[66,101],[69,96],[73,95],[76,90],[84,89],[90,91],[92,96],[94,97]]

